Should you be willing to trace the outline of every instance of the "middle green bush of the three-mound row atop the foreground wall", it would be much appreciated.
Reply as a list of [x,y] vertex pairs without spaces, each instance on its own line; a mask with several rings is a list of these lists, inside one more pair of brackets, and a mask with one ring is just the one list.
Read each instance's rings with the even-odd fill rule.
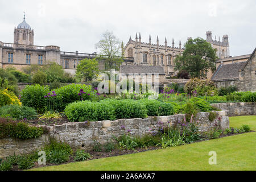
[[146,106],[134,100],[102,100],[101,104],[112,105],[117,119],[146,118]]

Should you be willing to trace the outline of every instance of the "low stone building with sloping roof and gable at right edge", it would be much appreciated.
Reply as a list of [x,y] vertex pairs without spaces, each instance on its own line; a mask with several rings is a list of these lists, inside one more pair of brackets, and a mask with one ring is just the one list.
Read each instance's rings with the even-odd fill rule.
[[227,60],[220,63],[213,73],[212,81],[216,82],[218,88],[236,85],[240,91],[256,91],[255,51],[256,48],[246,61],[241,60],[245,60],[248,55],[240,56],[237,62],[228,63],[230,60]]

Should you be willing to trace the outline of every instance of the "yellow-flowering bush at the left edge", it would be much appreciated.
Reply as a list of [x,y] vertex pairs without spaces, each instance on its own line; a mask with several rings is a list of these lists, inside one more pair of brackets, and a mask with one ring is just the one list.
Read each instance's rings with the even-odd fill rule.
[[7,89],[0,89],[0,107],[11,104],[21,105],[18,97],[16,97],[13,92]]

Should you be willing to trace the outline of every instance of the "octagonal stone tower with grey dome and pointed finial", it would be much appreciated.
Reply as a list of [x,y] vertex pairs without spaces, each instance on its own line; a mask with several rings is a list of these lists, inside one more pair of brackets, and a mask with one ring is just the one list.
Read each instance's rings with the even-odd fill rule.
[[26,22],[24,14],[23,22],[14,27],[14,44],[25,44],[34,46],[34,30]]

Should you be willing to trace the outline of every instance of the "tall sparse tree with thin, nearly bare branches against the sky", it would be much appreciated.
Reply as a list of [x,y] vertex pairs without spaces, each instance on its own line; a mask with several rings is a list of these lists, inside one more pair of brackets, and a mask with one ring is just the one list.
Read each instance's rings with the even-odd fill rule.
[[121,42],[120,40],[113,34],[113,32],[105,31],[102,34],[102,39],[95,45],[96,49],[100,49],[101,55],[104,57],[98,57],[98,59],[104,58],[106,69],[110,71],[110,69],[118,69],[122,59],[121,52]]

